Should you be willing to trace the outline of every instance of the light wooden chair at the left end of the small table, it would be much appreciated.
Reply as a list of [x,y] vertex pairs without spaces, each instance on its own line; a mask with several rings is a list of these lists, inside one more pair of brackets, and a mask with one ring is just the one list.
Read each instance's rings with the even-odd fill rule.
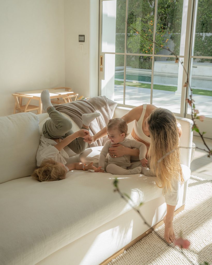
[[[16,111],[18,111],[18,112],[28,112],[28,111],[35,111],[35,110],[37,110],[37,112],[39,113],[39,106],[29,105],[29,103],[30,103],[31,99],[33,98],[33,96],[19,95],[19,94],[12,94],[12,95],[14,96],[14,99],[15,99],[15,108],[14,108],[13,114],[15,114]],[[27,98],[28,99],[26,105],[22,105],[22,99],[23,98]]]

